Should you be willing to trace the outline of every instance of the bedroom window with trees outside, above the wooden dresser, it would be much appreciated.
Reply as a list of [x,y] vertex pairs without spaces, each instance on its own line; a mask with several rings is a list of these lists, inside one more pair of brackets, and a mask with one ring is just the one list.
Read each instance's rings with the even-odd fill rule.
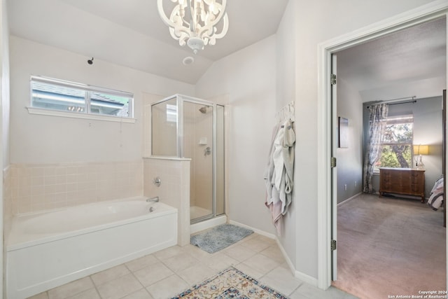
[[375,164],[376,171],[379,167],[412,168],[413,125],[412,115],[386,118],[381,158]]

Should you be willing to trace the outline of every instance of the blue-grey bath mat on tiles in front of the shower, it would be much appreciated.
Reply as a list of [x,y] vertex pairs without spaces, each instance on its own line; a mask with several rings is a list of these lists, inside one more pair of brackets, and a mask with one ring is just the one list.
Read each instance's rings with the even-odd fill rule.
[[251,235],[251,233],[253,230],[247,228],[233,224],[221,224],[211,230],[191,236],[190,243],[208,253],[214,253]]

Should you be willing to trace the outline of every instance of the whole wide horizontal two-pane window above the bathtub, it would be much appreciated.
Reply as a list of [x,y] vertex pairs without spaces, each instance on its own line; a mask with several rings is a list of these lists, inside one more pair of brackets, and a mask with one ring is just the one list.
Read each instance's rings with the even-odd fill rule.
[[28,110],[45,115],[121,121],[133,119],[133,101],[130,92],[31,76]]

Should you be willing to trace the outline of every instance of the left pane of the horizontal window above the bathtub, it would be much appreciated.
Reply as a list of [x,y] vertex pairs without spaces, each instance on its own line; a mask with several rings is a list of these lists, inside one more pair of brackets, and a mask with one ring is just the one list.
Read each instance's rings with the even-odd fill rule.
[[85,112],[85,91],[31,81],[31,106],[43,109]]

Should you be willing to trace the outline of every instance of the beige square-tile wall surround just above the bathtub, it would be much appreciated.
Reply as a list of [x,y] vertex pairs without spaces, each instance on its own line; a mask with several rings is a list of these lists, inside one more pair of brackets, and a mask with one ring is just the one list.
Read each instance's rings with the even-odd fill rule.
[[[11,214],[139,196],[143,162],[13,164],[6,169]],[[10,199],[9,199],[10,198]]]

